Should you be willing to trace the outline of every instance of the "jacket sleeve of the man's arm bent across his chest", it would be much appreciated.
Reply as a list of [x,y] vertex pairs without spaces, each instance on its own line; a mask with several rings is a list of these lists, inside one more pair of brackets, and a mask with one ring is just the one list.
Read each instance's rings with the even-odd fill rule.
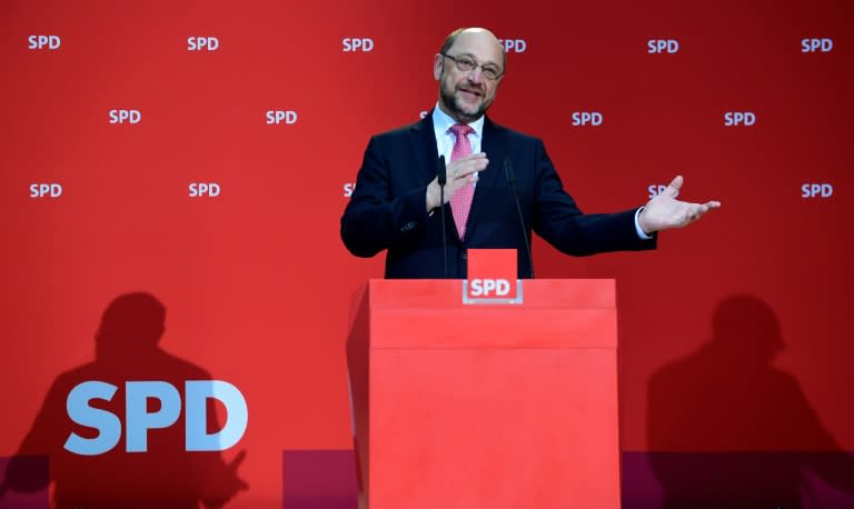
[[373,257],[384,249],[413,244],[427,224],[427,187],[396,190],[393,168],[384,143],[395,140],[374,137],[365,150],[356,189],[341,217],[341,240],[357,257]]

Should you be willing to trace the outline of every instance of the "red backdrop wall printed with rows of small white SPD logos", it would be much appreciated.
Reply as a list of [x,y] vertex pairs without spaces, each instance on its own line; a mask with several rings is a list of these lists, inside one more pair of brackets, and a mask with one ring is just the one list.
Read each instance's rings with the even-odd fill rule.
[[[737,295],[778,321],[785,349],[759,368],[791,375],[832,449],[854,450],[850,2],[7,1],[0,20],[0,456],[56,377],[93,358],[101,313],[129,291],[166,306],[165,350],[246,397],[246,435],[224,452],[247,451],[232,507],[281,506],[282,450],[351,447],[350,299],[383,257],[342,247],[346,189],[371,133],[433,107],[433,56],[460,26],[512,41],[490,117],[545,140],[583,210],[643,204],[678,173],[683,198],[723,202],[654,252],[578,259],[535,241],[538,277],[617,279],[624,450],[827,448],[771,407],[745,417],[757,399],[725,383],[771,333],[749,309],[727,329],[744,341],[688,382],[726,413],[651,393],[714,343]],[[370,50],[345,51],[352,38]],[[139,121],[110,123],[122,109]],[[296,122],[267,123],[270,110]],[[575,112],[602,123],[573,126]],[[732,112],[753,117],[726,126]],[[193,182],[221,192],[190,197]],[[61,194],[31,197],[33,183]],[[763,426],[791,432],[763,441]]]

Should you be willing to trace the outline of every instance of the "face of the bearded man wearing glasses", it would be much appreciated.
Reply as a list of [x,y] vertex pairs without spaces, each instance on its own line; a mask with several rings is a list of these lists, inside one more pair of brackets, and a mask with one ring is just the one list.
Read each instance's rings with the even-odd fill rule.
[[[467,57],[480,66],[504,71],[502,47],[487,31],[460,33],[447,54]],[[486,112],[502,81],[500,76],[494,80],[487,79],[481,67],[460,71],[454,60],[441,54],[436,56],[434,76],[439,81],[439,103],[443,110],[461,123],[470,123]]]

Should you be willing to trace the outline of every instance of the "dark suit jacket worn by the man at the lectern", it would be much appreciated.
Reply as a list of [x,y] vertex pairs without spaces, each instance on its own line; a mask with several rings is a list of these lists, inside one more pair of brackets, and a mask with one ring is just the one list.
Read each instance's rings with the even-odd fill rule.
[[373,257],[384,249],[386,278],[444,278],[443,230],[448,247],[448,277],[466,277],[466,250],[512,248],[518,251],[518,276],[529,278],[523,229],[504,160],[515,169],[528,238],[533,228],[567,255],[655,248],[635,230],[636,209],[619,213],[583,214],[564,191],[543,141],[484,122],[481,151],[489,166],[475,188],[466,238],[460,241],[445,204],[426,210],[427,184],[436,177],[438,153],[433,116],[370,139],[356,189],[341,217],[341,239],[351,253]]

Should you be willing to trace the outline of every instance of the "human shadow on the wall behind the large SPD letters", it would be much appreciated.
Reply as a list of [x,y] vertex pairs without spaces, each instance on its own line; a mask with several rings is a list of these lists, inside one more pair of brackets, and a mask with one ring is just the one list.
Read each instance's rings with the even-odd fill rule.
[[[185,381],[211,379],[200,367],[159,347],[165,318],[163,305],[148,293],[122,295],[107,307],[95,337],[95,361],[53,381],[18,453],[8,463],[0,492],[38,491],[52,483],[53,507],[60,509],[196,509],[199,505],[224,507],[238,491],[248,488],[237,475],[244,452],[227,465],[219,452],[185,451],[183,409],[173,425],[148,431],[146,452],[126,452],[127,381],[166,381],[186,401]],[[93,439],[99,431],[72,421],[66,400],[75,387],[92,380],[117,387],[111,400],[92,399],[88,405],[118,416],[121,440],[107,452],[81,456],[67,450],[66,440],[72,432]],[[208,433],[220,429],[214,405],[208,400]],[[148,412],[160,409],[157,399],[148,399],[147,406]],[[101,417],[115,419],[106,413]],[[49,475],[44,472],[46,466]]]

